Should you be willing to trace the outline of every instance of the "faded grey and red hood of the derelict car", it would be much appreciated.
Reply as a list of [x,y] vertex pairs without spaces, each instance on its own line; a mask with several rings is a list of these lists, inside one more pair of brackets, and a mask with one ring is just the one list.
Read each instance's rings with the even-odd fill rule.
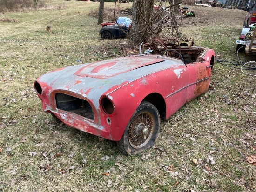
[[184,65],[178,59],[161,59],[157,56],[123,57],[68,66],[48,72],[37,79],[42,86],[51,90],[61,90],[82,95],[99,105],[102,94],[128,84],[135,79],[170,68]]

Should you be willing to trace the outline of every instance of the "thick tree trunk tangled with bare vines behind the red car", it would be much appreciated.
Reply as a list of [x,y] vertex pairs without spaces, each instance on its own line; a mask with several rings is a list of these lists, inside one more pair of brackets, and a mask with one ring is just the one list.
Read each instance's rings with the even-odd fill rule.
[[176,32],[177,36],[181,37],[179,26],[182,16],[178,7],[182,0],[168,1],[169,6],[164,8],[162,1],[133,0],[132,34],[130,35],[132,46],[158,38],[162,30],[167,30],[164,33],[166,35],[170,32],[174,35]]

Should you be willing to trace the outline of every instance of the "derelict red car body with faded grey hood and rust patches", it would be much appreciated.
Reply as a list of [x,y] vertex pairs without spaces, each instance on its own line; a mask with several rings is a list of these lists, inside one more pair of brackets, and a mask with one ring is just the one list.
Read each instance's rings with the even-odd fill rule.
[[[214,51],[202,47],[195,50],[199,50],[198,56],[191,63],[143,54],[68,66],[44,74],[34,82],[34,88],[46,113],[81,131],[113,141],[122,140],[123,151],[133,155],[155,142],[154,138],[153,144],[134,147],[131,144],[132,149],[123,144],[131,142],[124,132],[141,103],[155,107],[155,116],[168,119],[209,89]],[[153,117],[148,112],[145,115]],[[158,130],[151,133],[147,120],[144,121],[137,123],[133,134],[142,139],[147,139],[149,134],[156,137]],[[158,121],[153,118],[154,125]]]

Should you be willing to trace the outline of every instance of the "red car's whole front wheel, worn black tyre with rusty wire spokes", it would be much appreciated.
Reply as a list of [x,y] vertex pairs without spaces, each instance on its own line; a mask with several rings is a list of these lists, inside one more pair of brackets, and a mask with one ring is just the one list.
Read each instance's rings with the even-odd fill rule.
[[131,117],[117,144],[127,155],[139,154],[155,144],[159,126],[160,115],[156,107],[143,101]]

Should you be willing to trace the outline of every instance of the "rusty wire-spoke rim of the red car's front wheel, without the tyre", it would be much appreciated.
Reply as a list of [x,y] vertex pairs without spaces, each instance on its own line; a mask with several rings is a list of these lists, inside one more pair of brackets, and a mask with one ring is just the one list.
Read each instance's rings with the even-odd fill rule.
[[153,114],[143,112],[138,114],[129,126],[129,143],[135,149],[145,146],[155,129],[155,119]]

